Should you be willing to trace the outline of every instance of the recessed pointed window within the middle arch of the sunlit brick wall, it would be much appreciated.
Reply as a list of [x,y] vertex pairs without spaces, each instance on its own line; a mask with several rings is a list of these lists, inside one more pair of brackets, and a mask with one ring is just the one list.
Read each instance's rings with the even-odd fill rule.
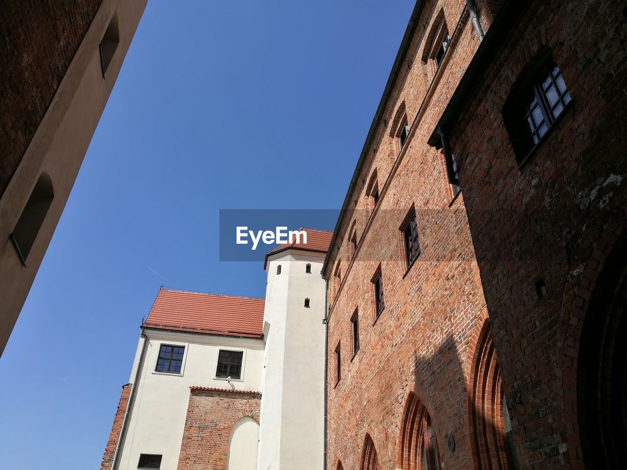
[[403,470],[440,470],[438,442],[431,417],[418,396],[410,392],[401,424],[397,467]]

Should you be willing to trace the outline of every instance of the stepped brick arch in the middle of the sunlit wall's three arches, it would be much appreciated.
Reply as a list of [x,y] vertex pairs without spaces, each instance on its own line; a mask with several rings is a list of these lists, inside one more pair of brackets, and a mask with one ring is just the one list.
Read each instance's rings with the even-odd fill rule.
[[[427,426],[430,421],[429,413],[413,387],[408,387],[405,394],[401,419],[396,441],[396,468],[400,470],[430,470],[430,462],[427,465],[428,469],[423,466],[425,446],[427,446],[426,452],[429,452],[429,455],[433,454],[433,458],[436,460],[435,467],[439,468],[440,456],[436,439],[434,438],[431,442],[427,436],[433,425]],[[425,439],[428,439],[426,444]],[[435,446],[435,448],[431,449],[431,446]]]

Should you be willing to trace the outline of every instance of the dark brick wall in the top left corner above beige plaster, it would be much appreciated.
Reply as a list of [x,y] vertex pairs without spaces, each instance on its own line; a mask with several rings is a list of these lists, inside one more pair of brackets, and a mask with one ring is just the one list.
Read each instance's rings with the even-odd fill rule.
[[0,196],[102,0],[4,0],[0,11]]

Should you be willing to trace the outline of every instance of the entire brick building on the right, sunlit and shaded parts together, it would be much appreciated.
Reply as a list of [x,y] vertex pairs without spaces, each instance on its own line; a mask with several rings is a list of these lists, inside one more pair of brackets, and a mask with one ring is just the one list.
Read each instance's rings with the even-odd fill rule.
[[324,264],[327,469],[624,466],[626,34],[416,4]]

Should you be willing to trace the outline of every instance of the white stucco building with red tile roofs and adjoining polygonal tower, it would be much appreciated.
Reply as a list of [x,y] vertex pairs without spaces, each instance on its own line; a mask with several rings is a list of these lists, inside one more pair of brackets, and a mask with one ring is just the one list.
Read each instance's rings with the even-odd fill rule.
[[331,232],[268,253],[266,298],[162,289],[102,469],[321,469]]

